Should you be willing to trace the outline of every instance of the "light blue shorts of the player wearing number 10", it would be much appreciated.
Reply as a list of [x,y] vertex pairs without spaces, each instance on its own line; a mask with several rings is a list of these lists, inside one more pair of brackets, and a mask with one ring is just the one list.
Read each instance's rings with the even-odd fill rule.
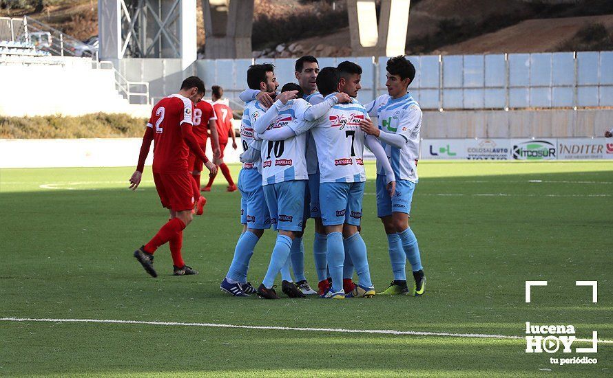
[[306,180],[264,185],[264,197],[276,230],[302,231]]

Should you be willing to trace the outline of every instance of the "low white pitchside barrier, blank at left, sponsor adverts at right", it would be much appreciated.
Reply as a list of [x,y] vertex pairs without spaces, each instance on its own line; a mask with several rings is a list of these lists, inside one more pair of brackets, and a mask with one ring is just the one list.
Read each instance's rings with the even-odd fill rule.
[[[0,140],[0,168],[112,167],[136,166],[141,138]],[[234,150],[230,143],[224,161],[238,163],[242,152],[240,138]],[[153,148],[152,148],[153,149]],[[212,157],[210,144],[207,156]],[[152,164],[153,151],[147,165]],[[374,159],[364,151],[366,159]],[[526,138],[526,139],[426,139],[422,140],[422,160],[560,160],[613,159],[613,139],[609,138]]]

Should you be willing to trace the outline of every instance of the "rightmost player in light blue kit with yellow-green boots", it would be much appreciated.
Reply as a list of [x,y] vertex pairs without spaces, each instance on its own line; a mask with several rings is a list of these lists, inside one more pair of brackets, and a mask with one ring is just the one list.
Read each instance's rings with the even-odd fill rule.
[[415,67],[404,56],[387,61],[388,94],[379,96],[366,105],[368,114],[377,116],[373,122],[361,122],[362,131],[377,137],[391,159],[396,192],[390,196],[385,190],[388,177],[377,162],[377,216],[381,218],[388,238],[389,256],[394,274],[391,285],[382,295],[408,294],[406,285],[406,259],[411,263],[415,285],[414,296],[426,290],[426,277],[419,254],[417,238],[408,225],[411,201],[417,184],[417,158],[419,157],[419,130],[422,110],[408,93],[408,85],[415,78]]

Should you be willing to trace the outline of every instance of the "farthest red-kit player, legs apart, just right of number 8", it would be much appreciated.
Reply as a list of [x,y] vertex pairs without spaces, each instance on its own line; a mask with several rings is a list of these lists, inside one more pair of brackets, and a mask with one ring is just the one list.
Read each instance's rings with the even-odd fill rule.
[[[219,135],[220,150],[220,155],[218,159],[215,160],[215,164],[219,167],[221,173],[223,173],[224,177],[228,181],[228,192],[235,192],[237,190],[236,184],[234,184],[234,181],[232,180],[232,176],[230,175],[230,170],[228,166],[223,161],[223,151],[228,144],[228,134],[232,137],[232,148],[236,150],[236,148],[238,147],[236,145],[236,134],[234,133],[234,127],[232,126],[232,109],[230,109],[229,106],[227,106],[224,102],[221,101],[221,98],[223,97],[222,87],[220,87],[219,85],[214,85],[211,89],[213,91],[213,96],[211,96],[211,98],[213,99],[213,109],[215,110],[215,114],[217,117],[216,124],[217,133]],[[213,185],[215,177],[216,175],[210,175],[209,183],[207,184],[207,186],[205,186],[204,189],[202,189],[202,191],[211,191],[211,186]]]

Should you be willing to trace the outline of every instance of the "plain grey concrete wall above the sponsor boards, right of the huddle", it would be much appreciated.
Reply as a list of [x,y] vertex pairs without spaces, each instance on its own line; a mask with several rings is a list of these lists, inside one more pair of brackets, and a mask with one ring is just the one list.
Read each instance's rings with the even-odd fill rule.
[[422,138],[601,137],[613,109],[424,111]]

